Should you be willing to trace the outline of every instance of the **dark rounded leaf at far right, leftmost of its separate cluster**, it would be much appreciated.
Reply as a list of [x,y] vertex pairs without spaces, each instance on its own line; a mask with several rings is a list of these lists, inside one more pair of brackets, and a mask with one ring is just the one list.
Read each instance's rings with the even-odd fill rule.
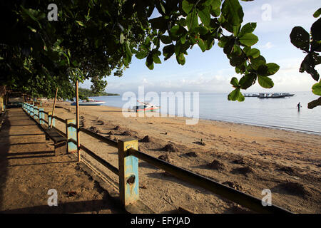
[[309,51],[310,35],[304,28],[296,26],[290,33],[291,43],[303,51]]

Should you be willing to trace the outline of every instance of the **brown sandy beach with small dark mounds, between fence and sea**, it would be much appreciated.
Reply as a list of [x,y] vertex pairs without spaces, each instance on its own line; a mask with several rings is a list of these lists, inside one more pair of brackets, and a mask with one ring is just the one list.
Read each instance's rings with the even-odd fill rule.
[[[57,102],[56,115],[76,118],[76,108]],[[51,111],[52,102],[45,102]],[[113,140],[143,139],[139,150],[191,170],[250,195],[263,198],[272,192],[272,204],[295,213],[321,212],[321,136],[253,125],[199,120],[186,125],[186,118],[124,117],[121,108],[107,106],[80,108],[81,126]],[[116,128],[118,126],[118,128]],[[56,127],[65,126],[56,120]],[[117,130],[115,130],[117,129]],[[81,133],[81,144],[118,166],[116,148]],[[175,151],[165,151],[166,145]],[[82,152],[83,156],[90,158]],[[106,172],[118,188],[118,177]],[[141,200],[156,213],[183,207],[195,213],[248,213],[247,209],[211,192],[189,185],[147,162],[139,162]]]

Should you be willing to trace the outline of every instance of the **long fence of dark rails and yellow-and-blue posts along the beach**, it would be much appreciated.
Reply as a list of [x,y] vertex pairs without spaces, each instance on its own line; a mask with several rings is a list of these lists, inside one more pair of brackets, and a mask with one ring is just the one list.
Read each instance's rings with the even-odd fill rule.
[[[114,167],[87,147],[79,144],[80,148],[77,148],[78,143],[76,138],[76,120],[63,120],[62,118],[58,118],[56,115],[53,116],[51,112],[45,112],[43,108],[38,108],[29,103],[24,103],[22,108],[26,113],[30,115],[31,118],[36,121],[36,123],[39,123],[39,125],[43,129],[49,128],[49,123],[51,123],[52,118],[52,127],[56,129],[58,133],[63,135],[63,137],[65,137],[68,142],[66,152],[76,152],[78,151],[78,149],[80,149],[100,162],[101,165],[108,168],[108,170],[111,170],[113,173],[118,175],[119,195],[124,206],[136,202],[139,199],[138,159],[141,159],[151,165],[165,170],[166,172],[169,172],[171,175],[178,177],[180,180],[184,180],[185,182],[196,185],[198,187],[203,187],[205,190],[209,190],[215,195],[220,195],[221,197],[229,199],[230,201],[240,204],[243,207],[252,209],[254,212],[282,214],[291,213],[286,209],[273,204],[270,206],[263,206],[261,199],[248,195],[244,192],[240,192],[231,187],[222,185],[220,182],[215,182],[214,180],[210,180],[207,177],[203,177],[202,175],[190,172],[189,170],[185,170],[182,167],[172,165],[168,162],[141,152],[138,150],[138,140],[128,138],[125,140],[118,140],[118,142],[116,142],[103,137],[102,135],[93,133],[85,128],[78,128],[78,132],[83,132],[93,138],[107,143],[108,145],[111,145],[112,147],[118,148],[118,168]],[[44,115],[47,115],[47,119],[44,118]],[[55,128],[54,120],[61,121],[61,123],[64,123],[66,125],[66,133],[63,133],[61,130],[58,130],[58,128]]]

